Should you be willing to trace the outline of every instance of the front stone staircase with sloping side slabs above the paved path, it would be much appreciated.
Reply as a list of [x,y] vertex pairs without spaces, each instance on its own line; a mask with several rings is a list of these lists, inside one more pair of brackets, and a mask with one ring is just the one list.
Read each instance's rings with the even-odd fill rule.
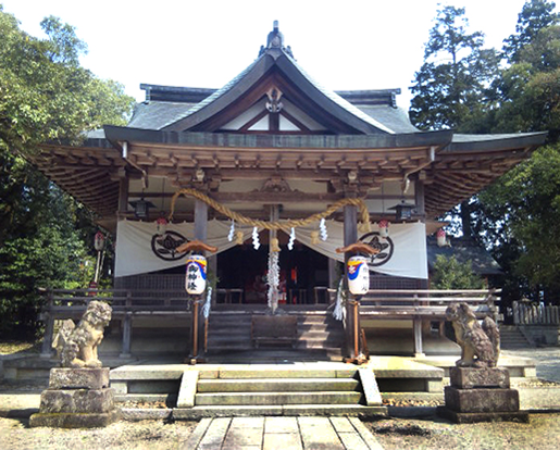
[[262,364],[200,372],[198,379],[182,383],[174,417],[386,414],[373,372],[340,365],[306,370]]

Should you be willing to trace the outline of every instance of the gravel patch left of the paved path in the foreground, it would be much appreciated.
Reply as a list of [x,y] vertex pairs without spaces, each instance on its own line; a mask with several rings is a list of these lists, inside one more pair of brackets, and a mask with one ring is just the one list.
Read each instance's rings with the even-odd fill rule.
[[197,422],[119,422],[107,428],[29,428],[28,421],[0,418],[0,449],[186,449]]

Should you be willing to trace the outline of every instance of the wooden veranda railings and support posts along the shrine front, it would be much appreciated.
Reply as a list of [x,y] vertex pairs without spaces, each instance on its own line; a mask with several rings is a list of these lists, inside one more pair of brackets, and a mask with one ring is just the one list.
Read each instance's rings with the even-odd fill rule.
[[[336,302],[336,291],[328,289],[328,303],[283,305],[287,315],[306,315],[323,312],[331,314]],[[414,354],[423,354],[422,333],[431,322],[443,324],[445,311],[453,302],[464,302],[471,307],[478,318],[490,316],[498,318],[496,303],[500,290],[427,290],[427,289],[398,289],[398,290],[370,290],[358,304],[361,320],[408,320],[413,323]],[[189,297],[184,290],[174,291],[135,291],[129,289],[91,290],[54,289],[47,292],[47,302],[41,313],[46,325],[45,340],[41,354],[52,354],[53,332],[55,321],[72,318],[78,320],[85,312],[87,304],[92,300],[107,301],[113,308],[112,321],[120,321],[122,329],[121,355],[130,355],[133,322],[141,316],[184,316],[191,317],[192,304],[199,299]],[[200,304],[200,303],[199,303]],[[213,307],[214,314],[225,311],[235,312],[239,316],[263,315],[266,305],[220,303]],[[351,311],[351,310],[350,310]],[[210,312],[212,316],[213,312]],[[190,321],[189,321],[190,322]],[[206,323],[208,325],[208,322]],[[204,323],[201,324],[204,329]],[[206,328],[208,332],[208,328]],[[192,339],[192,330],[185,329],[185,336],[191,334],[191,354],[203,352],[207,347],[208,334],[203,333],[199,342]],[[347,335],[347,345],[352,346],[353,337]],[[361,342],[363,343],[363,342]],[[350,351],[351,353],[351,351]]]

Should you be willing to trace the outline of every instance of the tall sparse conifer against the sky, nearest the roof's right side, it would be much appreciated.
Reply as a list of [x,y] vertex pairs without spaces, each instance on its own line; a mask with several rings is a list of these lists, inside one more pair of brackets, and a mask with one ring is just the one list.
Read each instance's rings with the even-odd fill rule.
[[498,53],[484,49],[484,35],[469,33],[464,8],[437,11],[424,63],[411,91],[410,118],[421,129],[484,130],[487,88],[498,74]]

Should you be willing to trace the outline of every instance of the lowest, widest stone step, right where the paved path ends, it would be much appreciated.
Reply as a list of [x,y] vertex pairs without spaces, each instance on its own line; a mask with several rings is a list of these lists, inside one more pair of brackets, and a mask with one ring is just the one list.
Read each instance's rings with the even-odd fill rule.
[[386,416],[387,407],[363,407],[361,404],[286,404],[286,405],[232,405],[214,407],[203,405],[195,408],[175,408],[173,410],[174,420],[199,420],[202,417],[240,417],[259,415],[350,415],[350,416]]

